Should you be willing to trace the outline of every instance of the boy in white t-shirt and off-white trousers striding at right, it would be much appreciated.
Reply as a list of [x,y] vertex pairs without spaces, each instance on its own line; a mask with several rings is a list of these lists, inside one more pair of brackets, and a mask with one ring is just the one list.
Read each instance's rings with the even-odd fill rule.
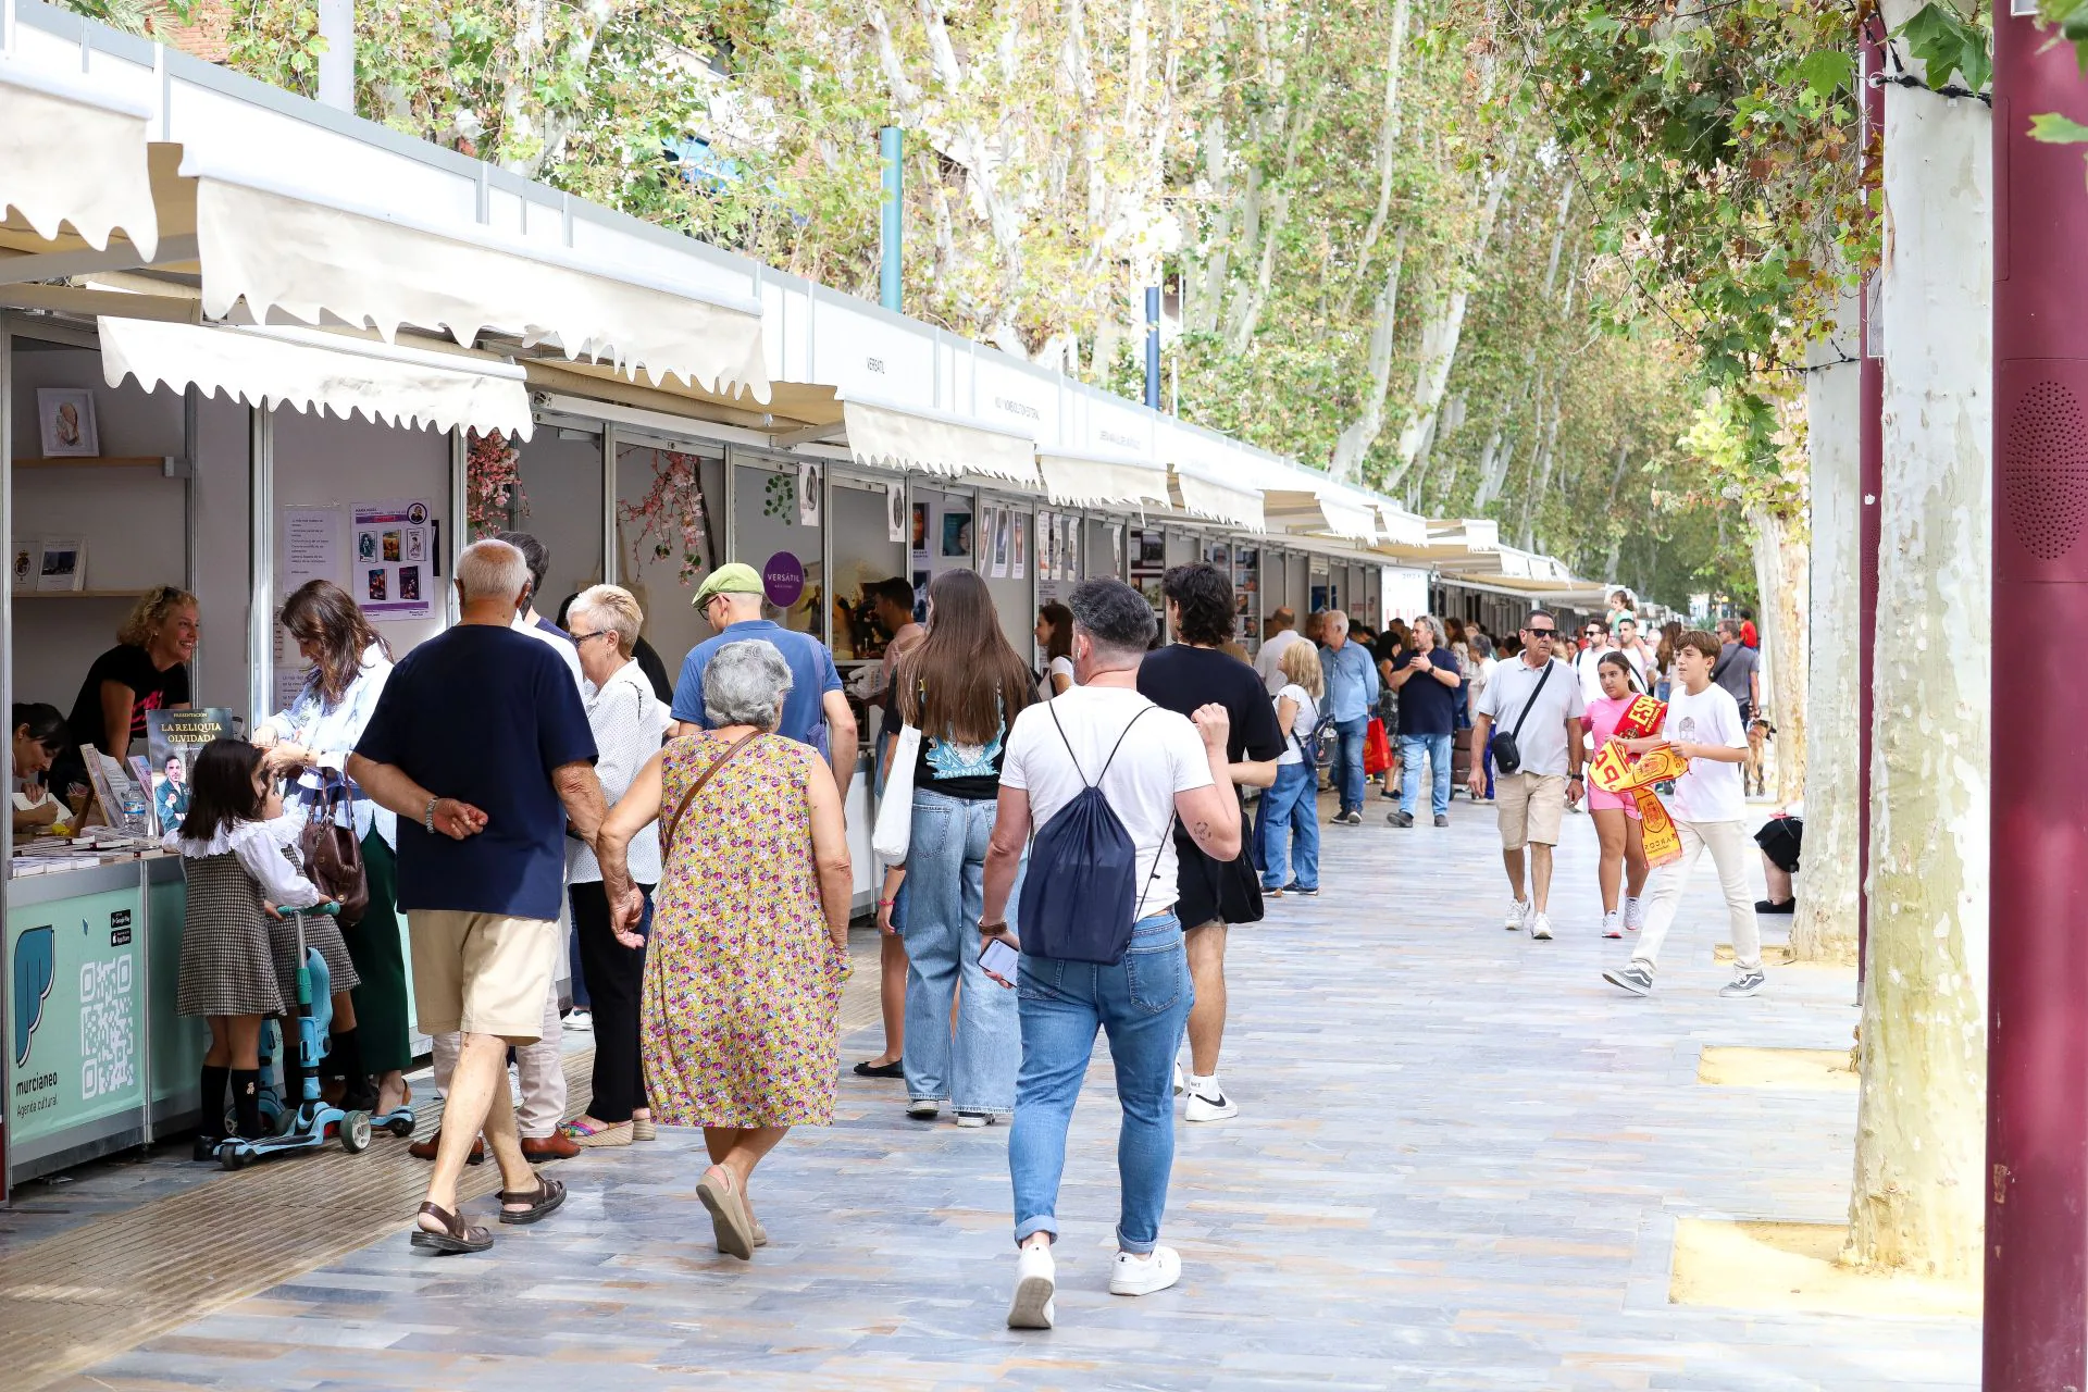
[[1654,870],[1645,931],[1631,962],[1601,975],[1633,995],[1652,993],[1660,943],[1675,922],[1689,870],[1706,849],[1718,866],[1718,887],[1725,889],[1725,910],[1733,929],[1733,979],[1718,989],[1718,995],[1754,995],[1766,983],[1762,935],[1754,922],[1754,893],[1748,889],[1754,837],[1748,835],[1748,799],[1739,783],[1739,766],[1748,758],[1748,728],[1739,722],[1739,703],[1710,680],[1716,662],[1718,639],[1702,628],[1685,632],[1675,649],[1675,674],[1681,685],[1668,697],[1660,733],[1650,739],[1618,741],[1631,753],[1672,745],[1689,760],[1689,772],[1675,781],[1675,793],[1666,799],[1683,841],[1681,860]]

